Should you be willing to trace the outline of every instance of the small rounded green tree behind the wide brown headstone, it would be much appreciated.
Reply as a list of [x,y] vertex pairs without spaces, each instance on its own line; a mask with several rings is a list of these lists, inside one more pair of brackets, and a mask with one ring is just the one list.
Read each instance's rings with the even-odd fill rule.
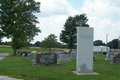
[[49,48],[50,52],[51,52],[51,48],[56,47],[57,45],[57,36],[55,36],[55,34],[50,34],[48,35],[47,38],[45,38],[41,43],[41,47],[42,48]]

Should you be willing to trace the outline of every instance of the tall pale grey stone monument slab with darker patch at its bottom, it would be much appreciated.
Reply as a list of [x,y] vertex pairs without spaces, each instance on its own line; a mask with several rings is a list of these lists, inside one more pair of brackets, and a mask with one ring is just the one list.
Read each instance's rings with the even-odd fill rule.
[[93,72],[93,28],[77,27],[78,73]]

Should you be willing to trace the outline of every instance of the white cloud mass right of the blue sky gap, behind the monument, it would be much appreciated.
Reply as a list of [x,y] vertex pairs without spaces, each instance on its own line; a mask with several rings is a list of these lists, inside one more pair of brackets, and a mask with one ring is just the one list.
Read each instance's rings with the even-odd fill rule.
[[120,34],[120,0],[84,0],[81,10],[89,17],[89,25],[94,27],[94,40],[106,42],[118,38]]

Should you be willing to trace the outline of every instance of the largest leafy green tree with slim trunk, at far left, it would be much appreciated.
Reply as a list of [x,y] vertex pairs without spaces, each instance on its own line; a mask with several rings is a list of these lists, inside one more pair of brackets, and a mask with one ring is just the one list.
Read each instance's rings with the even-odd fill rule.
[[7,38],[12,38],[16,55],[17,40],[29,42],[41,32],[36,27],[40,2],[34,0],[0,0],[0,29]]

